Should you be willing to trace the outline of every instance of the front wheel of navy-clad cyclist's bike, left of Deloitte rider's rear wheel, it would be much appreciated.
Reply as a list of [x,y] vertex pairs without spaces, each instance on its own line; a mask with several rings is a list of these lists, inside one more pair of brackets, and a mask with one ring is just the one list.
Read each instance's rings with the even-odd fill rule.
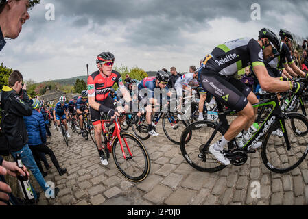
[[[174,123],[173,125],[171,125],[169,119],[168,119],[168,115],[172,116],[175,120],[171,121],[172,123]],[[182,129],[178,129],[179,127],[187,127],[190,124],[189,119],[187,120],[178,120],[176,119],[176,114],[180,114],[181,116],[184,115],[182,114],[182,112],[178,112],[176,111],[175,113],[169,112],[163,115],[163,121],[162,121],[162,126],[163,126],[163,131],[165,133],[165,136],[174,144],[180,145],[180,135],[182,133]],[[169,124],[169,126],[167,126],[167,124]],[[178,125],[178,127],[174,128],[174,125]],[[171,127],[170,127],[171,126]],[[169,130],[167,130],[169,129]],[[185,129],[185,128],[184,128]],[[176,131],[178,130],[178,131]],[[172,132],[174,131],[174,132]]]

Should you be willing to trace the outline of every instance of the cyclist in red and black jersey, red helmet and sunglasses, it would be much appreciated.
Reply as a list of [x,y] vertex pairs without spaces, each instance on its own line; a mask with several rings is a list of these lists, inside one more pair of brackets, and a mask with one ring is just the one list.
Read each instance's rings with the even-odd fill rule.
[[[117,103],[108,96],[112,86],[117,83],[123,94],[124,100],[131,101],[130,94],[123,84],[121,75],[112,70],[115,63],[115,56],[110,52],[102,52],[97,55],[96,64],[99,69],[88,77],[88,103],[90,105],[91,120],[95,130],[95,141],[99,151],[99,158],[103,165],[108,165],[108,161],[102,151],[102,125],[100,121],[100,112],[106,113],[111,118],[119,116],[118,112],[123,112],[122,107],[117,107]],[[125,117],[120,119],[120,123]]]

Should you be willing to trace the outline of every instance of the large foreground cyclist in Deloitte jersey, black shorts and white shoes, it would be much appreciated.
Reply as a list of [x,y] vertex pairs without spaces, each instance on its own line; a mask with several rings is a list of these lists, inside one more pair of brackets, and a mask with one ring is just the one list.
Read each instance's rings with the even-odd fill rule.
[[[225,42],[215,47],[212,53],[204,58],[200,69],[203,88],[215,96],[216,101],[239,112],[224,136],[209,147],[209,152],[221,164],[230,164],[230,160],[222,153],[224,146],[230,140],[235,137],[241,139],[237,141],[237,146],[242,148],[244,142],[241,131],[244,129],[245,136],[253,135],[248,129],[250,130],[257,114],[257,109],[252,107],[252,104],[259,102],[257,96],[244,83],[232,77],[237,70],[251,64],[262,90],[268,92],[292,90],[296,94],[303,92],[302,83],[280,81],[279,78],[268,75],[263,57],[273,55],[273,50],[279,51],[280,48],[279,38],[269,29],[263,28],[259,31],[258,40],[240,38]],[[259,146],[261,145],[256,143],[250,149],[257,149]]]

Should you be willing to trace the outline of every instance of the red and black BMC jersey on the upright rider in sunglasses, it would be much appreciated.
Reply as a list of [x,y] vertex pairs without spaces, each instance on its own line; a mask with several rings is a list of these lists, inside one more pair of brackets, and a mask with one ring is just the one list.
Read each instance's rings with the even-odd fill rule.
[[88,77],[88,96],[95,96],[95,101],[104,101],[116,82],[119,88],[125,88],[121,75],[117,71],[112,70],[111,75],[106,78],[96,71]]

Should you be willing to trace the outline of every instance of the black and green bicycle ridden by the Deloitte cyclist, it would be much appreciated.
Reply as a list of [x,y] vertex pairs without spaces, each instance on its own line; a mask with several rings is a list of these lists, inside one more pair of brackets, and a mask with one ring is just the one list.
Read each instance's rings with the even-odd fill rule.
[[[263,139],[261,158],[266,168],[276,173],[288,172],[296,168],[307,156],[308,142],[305,137],[308,132],[308,119],[303,114],[296,112],[282,112],[276,96],[261,101],[253,107],[265,105],[270,105],[272,111],[252,138],[246,142],[244,148],[239,149],[233,139],[228,143],[228,149],[224,149],[223,153],[230,159],[231,164],[244,165],[247,162],[248,154],[257,152],[256,149],[250,149],[249,146]],[[185,160],[193,168],[204,172],[217,172],[226,167],[219,164],[211,155],[209,146],[226,133],[229,127],[226,116],[233,114],[234,111],[223,112],[222,104],[218,101],[217,108],[219,122],[213,123],[203,120],[191,123],[183,131],[180,140],[180,149]],[[283,137],[272,135],[277,129],[283,132]],[[191,136],[189,140],[187,140],[188,135]]]

